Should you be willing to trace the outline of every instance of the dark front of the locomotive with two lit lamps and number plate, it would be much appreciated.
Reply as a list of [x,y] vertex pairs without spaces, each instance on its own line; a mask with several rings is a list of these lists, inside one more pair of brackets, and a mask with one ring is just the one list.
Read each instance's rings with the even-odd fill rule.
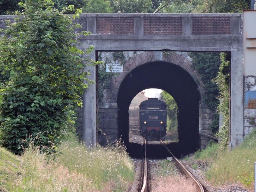
[[140,103],[140,133],[146,138],[166,135],[167,111],[164,101],[149,98]]

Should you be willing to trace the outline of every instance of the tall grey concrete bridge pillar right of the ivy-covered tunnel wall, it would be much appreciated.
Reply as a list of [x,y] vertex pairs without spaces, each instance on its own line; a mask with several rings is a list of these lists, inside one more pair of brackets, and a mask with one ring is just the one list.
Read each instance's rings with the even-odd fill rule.
[[243,49],[231,50],[230,65],[230,132],[231,147],[244,140],[244,65]]

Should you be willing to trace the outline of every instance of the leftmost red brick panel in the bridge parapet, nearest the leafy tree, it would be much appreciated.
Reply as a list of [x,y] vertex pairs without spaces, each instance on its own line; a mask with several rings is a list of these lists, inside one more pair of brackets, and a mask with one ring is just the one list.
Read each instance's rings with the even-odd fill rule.
[[96,28],[101,35],[133,35],[134,17],[97,17]]

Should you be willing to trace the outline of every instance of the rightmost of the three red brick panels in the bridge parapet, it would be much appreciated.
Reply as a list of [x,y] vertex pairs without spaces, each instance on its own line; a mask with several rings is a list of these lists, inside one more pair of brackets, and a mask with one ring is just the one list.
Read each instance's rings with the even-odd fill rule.
[[230,17],[193,17],[192,35],[230,35]]

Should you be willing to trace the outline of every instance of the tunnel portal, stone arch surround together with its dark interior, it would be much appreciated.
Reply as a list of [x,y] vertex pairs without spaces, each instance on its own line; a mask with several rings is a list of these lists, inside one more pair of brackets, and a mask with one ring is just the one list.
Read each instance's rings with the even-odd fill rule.
[[[201,132],[211,134],[213,114],[199,102],[203,101],[204,82],[188,58],[176,52],[144,52],[127,60],[123,68],[123,73],[111,79],[110,89],[99,103],[102,132],[112,140],[122,138],[128,143],[128,109],[132,99],[142,90],[158,88],[171,94],[179,108],[179,143],[172,144],[175,149],[191,152],[206,147],[208,138],[198,134],[199,107],[205,108]],[[205,113],[208,114],[205,116]],[[99,142],[105,145],[106,135],[101,134]]]

